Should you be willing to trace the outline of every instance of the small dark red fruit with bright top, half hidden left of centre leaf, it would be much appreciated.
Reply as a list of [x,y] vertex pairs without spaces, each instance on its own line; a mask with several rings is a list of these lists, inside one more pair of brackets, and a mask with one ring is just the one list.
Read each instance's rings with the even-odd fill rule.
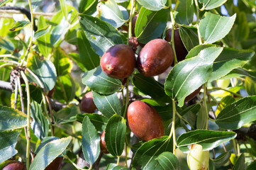
[[92,91],[89,91],[87,94],[84,94],[84,97],[80,102],[80,109],[85,113],[94,113],[96,106],[94,103],[94,99],[92,97]]

